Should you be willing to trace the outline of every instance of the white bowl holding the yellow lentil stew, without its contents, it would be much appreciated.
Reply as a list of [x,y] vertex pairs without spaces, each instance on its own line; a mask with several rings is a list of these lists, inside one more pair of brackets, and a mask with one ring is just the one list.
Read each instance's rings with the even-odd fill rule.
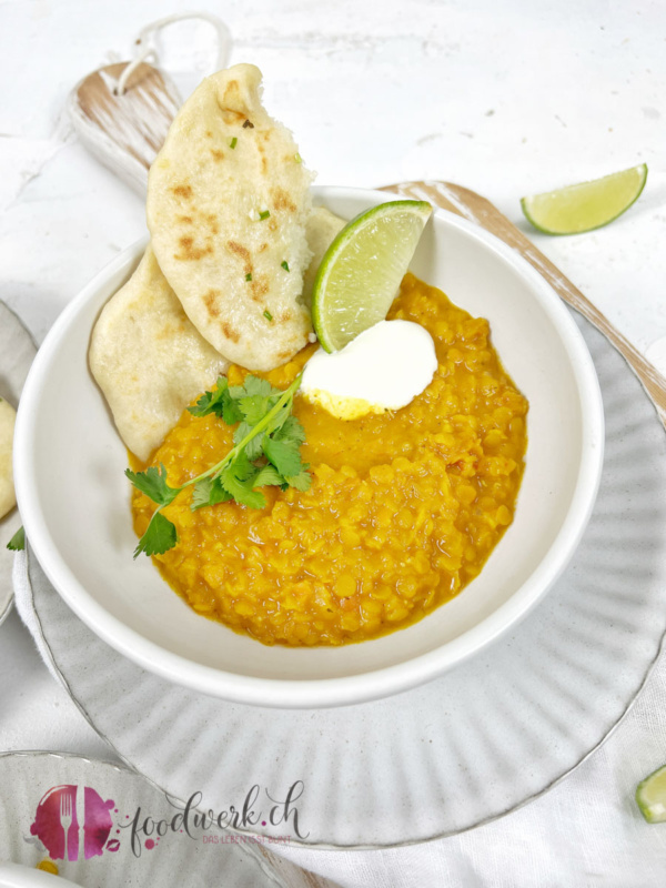
[[[323,188],[351,219],[387,200]],[[30,545],[78,616],[139,665],[205,694],[276,707],[359,703],[418,685],[515,624],[554,583],[592,512],[604,417],[592,359],[548,284],[500,240],[451,213],[428,223],[414,273],[491,322],[506,370],[529,400],[525,475],[513,524],[481,575],[448,604],[384,638],[339,648],[266,647],[198,616],[137,538],[127,454],[88,367],[100,310],[145,242],[101,271],[59,317],[26,384],[14,475]]]

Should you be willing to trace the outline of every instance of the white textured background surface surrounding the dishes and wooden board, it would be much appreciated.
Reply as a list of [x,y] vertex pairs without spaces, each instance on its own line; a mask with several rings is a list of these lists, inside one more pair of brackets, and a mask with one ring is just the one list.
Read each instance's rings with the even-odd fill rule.
[[[663,3],[230,0],[220,10],[211,0],[4,1],[0,299],[38,339],[144,232],[141,201],[68,135],[67,94],[109,50],[127,58],[135,31],[183,6],[223,12],[232,61],[262,68],[266,103],[296,132],[321,183],[444,178],[485,194],[523,226],[522,194],[646,161],[640,201],[608,229],[529,236],[638,347],[666,333]],[[202,70],[208,57],[192,60],[192,32],[183,28],[180,49],[169,38],[172,70],[192,61]],[[16,614],[0,627],[0,748],[105,755]],[[666,844],[630,800],[635,783],[666,760],[665,712],[662,664],[616,736],[578,775],[506,820],[508,834],[497,824],[455,848],[445,840],[301,860],[350,886],[650,885],[644,866],[622,867],[633,852],[654,870]],[[607,836],[615,841],[601,858]],[[487,880],[482,837],[494,848]]]

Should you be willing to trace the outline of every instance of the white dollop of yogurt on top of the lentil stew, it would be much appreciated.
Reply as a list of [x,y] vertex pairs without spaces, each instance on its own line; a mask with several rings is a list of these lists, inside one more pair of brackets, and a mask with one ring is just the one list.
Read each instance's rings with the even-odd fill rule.
[[437,369],[431,334],[412,321],[380,321],[339,352],[315,352],[301,394],[336,416],[400,410],[432,382]]

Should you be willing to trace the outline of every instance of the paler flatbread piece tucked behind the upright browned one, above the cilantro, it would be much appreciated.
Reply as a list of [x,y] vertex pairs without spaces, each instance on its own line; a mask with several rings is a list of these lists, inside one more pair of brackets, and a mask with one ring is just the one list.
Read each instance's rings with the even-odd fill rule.
[[104,306],[89,361],[120,436],[143,462],[229,366],[188,320],[150,245]]

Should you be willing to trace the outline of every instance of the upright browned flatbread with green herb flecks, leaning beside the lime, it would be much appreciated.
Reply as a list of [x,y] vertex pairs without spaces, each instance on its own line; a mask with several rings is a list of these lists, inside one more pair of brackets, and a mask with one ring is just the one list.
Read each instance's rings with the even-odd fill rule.
[[147,212],[160,268],[194,326],[231,361],[266,371],[312,332],[302,293],[313,176],[260,89],[252,64],[201,83],[151,168]]

